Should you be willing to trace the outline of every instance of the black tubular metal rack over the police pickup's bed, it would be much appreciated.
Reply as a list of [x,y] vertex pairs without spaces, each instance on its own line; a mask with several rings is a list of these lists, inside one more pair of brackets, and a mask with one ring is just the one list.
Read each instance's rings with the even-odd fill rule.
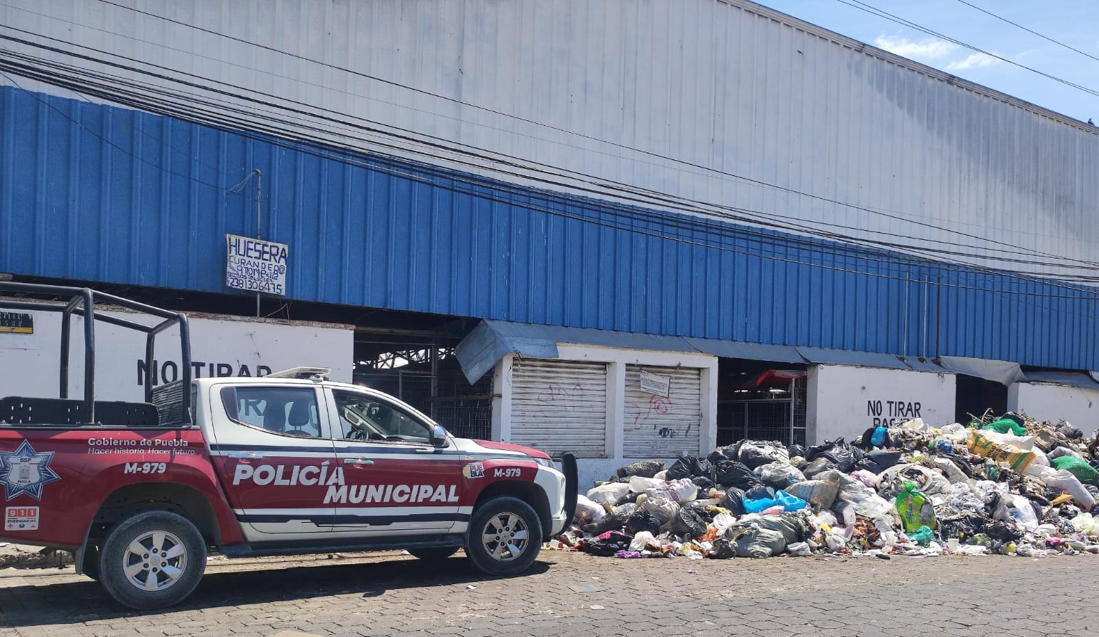
[[[191,385],[191,334],[187,322],[187,315],[174,312],[158,307],[153,307],[112,294],[98,292],[87,287],[70,287],[64,285],[46,285],[37,283],[15,283],[0,281],[0,293],[22,293],[48,296],[71,297],[70,300],[62,305],[35,303],[21,300],[12,297],[0,296],[0,309],[24,309],[33,311],[55,311],[62,314],[62,343],[60,343],[60,377],[58,397],[68,399],[68,376],[69,376],[69,343],[71,341],[71,326],[69,318],[74,315],[85,317],[84,321],[84,402],[80,409],[81,419],[88,424],[96,422],[96,321],[123,327],[140,331],[145,337],[145,369],[153,370],[153,354],[155,352],[156,336],[160,332],[179,326],[179,349],[180,367],[182,369],[182,387],[189,388]],[[96,311],[96,303],[110,304],[138,311],[148,316],[164,319],[152,326],[147,326],[134,320],[124,319],[111,315]],[[90,320],[89,320],[90,319]],[[153,402],[153,374],[145,374],[144,381],[145,402]],[[185,417],[184,425],[190,424],[191,414],[191,392],[185,389],[180,392],[182,400],[181,411]]]

